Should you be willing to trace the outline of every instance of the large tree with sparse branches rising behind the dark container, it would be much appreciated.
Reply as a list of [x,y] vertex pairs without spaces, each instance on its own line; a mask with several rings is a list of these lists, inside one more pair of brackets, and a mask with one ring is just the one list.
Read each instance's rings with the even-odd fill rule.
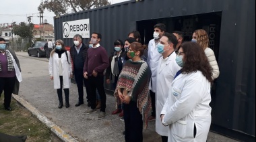
[[85,11],[97,7],[110,5],[107,0],[45,0],[38,7],[53,11],[57,17],[67,14],[71,9],[73,12]]

